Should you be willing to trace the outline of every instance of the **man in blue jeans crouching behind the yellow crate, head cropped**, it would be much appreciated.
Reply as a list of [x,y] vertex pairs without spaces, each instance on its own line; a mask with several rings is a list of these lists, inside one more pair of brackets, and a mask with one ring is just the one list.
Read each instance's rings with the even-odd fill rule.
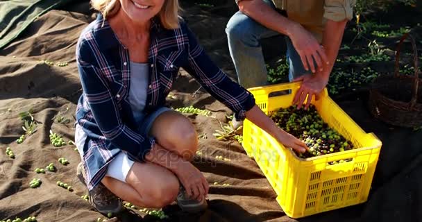
[[[355,0],[236,0],[239,11],[226,27],[230,56],[240,85],[267,85],[260,40],[284,35],[289,81],[303,81],[294,97],[301,108],[307,95],[326,87]],[[274,44],[281,44],[275,42]],[[305,104],[309,107],[310,100]],[[233,120],[235,128],[241,121]]]

